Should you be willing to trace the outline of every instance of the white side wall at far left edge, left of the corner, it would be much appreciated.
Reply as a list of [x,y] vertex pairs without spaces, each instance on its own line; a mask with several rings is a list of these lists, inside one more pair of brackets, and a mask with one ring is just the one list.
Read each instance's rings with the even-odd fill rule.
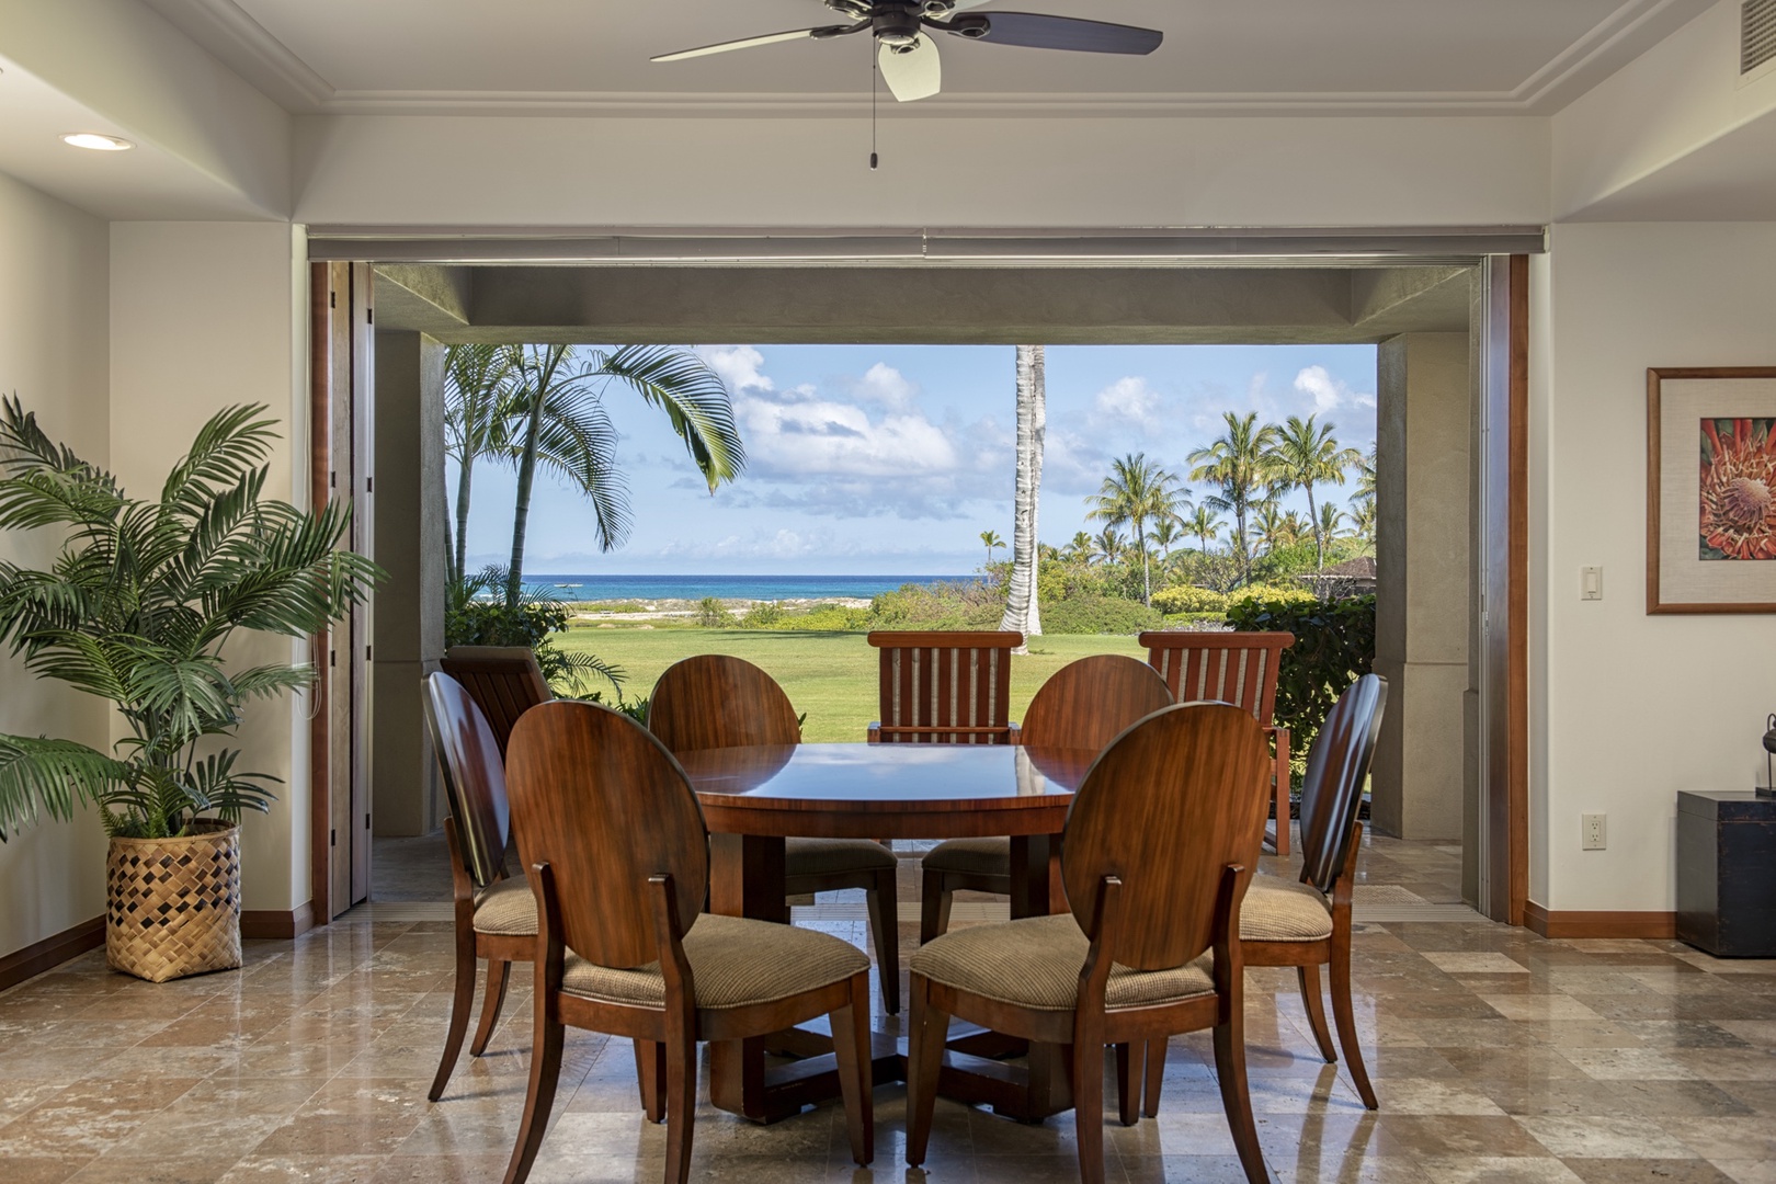
[[[0,394],[57,440],[108,460],[107,229],[0,174]],[[48,564],[59,540],[0,536],[0,557]],[[108,744],[108,710],[0,659],[0,731]],[[105,911],[105,833],[92,817],[44,822],[0,845],[0,955]]]

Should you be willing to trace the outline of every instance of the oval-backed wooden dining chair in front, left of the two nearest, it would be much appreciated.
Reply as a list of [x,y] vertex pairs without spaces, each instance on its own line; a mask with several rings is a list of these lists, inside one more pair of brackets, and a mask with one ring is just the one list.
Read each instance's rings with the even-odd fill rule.
[[506,1184],[536,1159],[567,1026],[643,1042],[666,1083],[666,1184],[691,1173],[696,1042],[828,1015],[851,1157],[874,1157],[870,960],[806,928],[702,912],[703,811],[671,753],[597,703],[524,714],[508,762],[511,822],[538,935],[531,1074]]

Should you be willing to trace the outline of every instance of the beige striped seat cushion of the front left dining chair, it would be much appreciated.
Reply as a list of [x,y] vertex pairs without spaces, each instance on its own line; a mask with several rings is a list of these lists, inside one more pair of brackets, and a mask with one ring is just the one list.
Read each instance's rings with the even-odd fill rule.
[[[868,955],[831,934],[712,912],[698,916],[684,935],[684,957],[700,1008],[787,999],[870,967]],[[568,951],[561,989],[600,1003],[666,1006],[659,962],[622,971]]]

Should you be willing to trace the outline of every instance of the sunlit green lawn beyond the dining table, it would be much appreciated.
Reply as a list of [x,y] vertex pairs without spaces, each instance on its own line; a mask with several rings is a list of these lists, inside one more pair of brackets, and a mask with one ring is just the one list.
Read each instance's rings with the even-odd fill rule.
[[[590,650],[627,673],[623,694],[648,694],[661,673],[693,653],[732,653],[765,669],[783,683],[797,712],[808,714],[803,735],[810,742],[863,740],[877,719],[876,650],[863,634],[794,634],[726,628],[575,628],[565,650]],[[1037,637],[1028,655],[1014,655],[1011,667],[1011,717],[1021,719],[1035,689],[1050,675],[1090,653],[1128,653],[1146,659],[1133,637],[1055,635]]]

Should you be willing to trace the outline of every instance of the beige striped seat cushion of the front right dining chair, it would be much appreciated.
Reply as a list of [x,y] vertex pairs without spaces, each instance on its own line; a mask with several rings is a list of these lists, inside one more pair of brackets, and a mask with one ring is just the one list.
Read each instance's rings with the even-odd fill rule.
[[[1087,950],[1090,943],[1078,921],[1071,912],[1060,912],[959,928],[920,946],[911,967],[932,982],[986,999],[1041,1012],[1071,1012]],[[1114,1010],[1215,994],[1211,966],[1208,953],[1174,971],[1114,966],[1105,1005]]]

